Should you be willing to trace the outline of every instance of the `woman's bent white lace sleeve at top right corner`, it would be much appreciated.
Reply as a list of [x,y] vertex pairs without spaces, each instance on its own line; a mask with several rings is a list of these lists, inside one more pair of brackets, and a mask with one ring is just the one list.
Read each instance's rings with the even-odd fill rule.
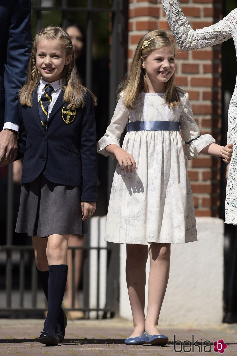
[[183,51],[217,45],[233,37],[237,31],[237,9],[209,27],[193,30],[184,16],[178,0],[161,0],[169,26]]

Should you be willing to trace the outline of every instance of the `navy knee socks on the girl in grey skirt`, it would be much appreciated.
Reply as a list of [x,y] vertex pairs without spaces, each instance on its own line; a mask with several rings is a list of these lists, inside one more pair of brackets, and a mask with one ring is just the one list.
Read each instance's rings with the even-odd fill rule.
[[49,266],[49,271],[42,272],[37,269],[37,273],[48,300],[48,314],[43,331],[56,334],[62,331],[64,325],[64,312],[61,305],[67,283],[68,266],[53,265]]

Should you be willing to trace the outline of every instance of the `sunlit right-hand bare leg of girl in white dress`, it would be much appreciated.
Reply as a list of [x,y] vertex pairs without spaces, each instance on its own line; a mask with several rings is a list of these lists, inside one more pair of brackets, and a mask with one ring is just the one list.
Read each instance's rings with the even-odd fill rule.
[[170,244],[152,243],[149,255],[151,268],[145,330],[152,335],[159,334],[157,324],[169,279]]

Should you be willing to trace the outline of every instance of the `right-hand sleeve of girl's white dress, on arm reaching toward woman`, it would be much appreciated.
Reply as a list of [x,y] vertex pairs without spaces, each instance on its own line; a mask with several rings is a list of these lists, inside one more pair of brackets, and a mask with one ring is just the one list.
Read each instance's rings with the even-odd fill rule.
[[183,102],[183,110],[179,117],[179,126],[185,141],[185,152],[188,159],[197,158],[200,151],[216,142],[211,135],[200,135],[199,128],[194,120],[193,111],[190,107],[189,95],[184,92],[181,95],[181,102]]

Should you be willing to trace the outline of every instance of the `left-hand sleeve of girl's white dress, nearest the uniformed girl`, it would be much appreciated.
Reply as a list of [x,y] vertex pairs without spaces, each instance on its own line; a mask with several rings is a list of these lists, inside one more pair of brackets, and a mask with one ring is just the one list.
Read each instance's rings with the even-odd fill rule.
[[97,152],[107,157],[109,154],[105,151],[106,146],[112,143],[119,146],[120,136],[127,125],[128,118],[128,109],[123,105],[121,97],[118,100],[114,115],[110,125],[107,127],[105,135],[97,142]]

